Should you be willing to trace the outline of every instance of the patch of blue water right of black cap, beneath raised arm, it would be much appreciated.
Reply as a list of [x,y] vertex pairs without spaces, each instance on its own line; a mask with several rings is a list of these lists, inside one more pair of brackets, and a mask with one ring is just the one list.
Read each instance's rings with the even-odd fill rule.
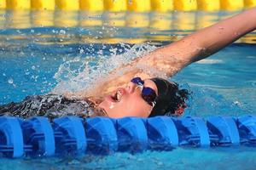
[[[197,111],[203,115],[203,112],[211,115],[209,109],[214,107],[218,111],[212,111],[212,115],[255,114],[255,47],[254,44],[233,44],[208,59],[189,65],[174,80],[196,87],[194,95],[198,100],[195,99],[195,105],[201,105],[204,100],[209,102],[204,102],[207,107],[197,106],[206,110]],[[243,111],[236,110],[234,105]]]

